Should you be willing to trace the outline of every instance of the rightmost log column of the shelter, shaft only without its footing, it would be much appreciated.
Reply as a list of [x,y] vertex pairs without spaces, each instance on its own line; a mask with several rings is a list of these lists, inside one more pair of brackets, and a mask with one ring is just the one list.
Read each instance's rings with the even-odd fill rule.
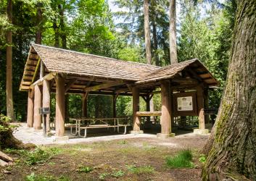
[[205,129],[205,111],[204,111],[204,90],[202,86],[197,87],[197,113],[199,120],[199,130]]

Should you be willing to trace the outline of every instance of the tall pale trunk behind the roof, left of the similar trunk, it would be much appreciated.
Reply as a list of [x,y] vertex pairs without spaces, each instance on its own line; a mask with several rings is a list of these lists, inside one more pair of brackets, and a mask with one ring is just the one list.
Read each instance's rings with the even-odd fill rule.
[[145,31],[146,63],[152,64],[151,44],[150,44],[150,26],[149,26],[149,0],[144,0],[144,31]]

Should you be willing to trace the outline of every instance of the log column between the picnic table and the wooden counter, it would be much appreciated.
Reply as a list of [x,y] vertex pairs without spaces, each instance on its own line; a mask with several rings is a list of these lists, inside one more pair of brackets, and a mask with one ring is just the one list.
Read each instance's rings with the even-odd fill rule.
[[139,111],[139,89],[133,88],[133,131],[139,131],[141,120],[136,116],[136,111]]

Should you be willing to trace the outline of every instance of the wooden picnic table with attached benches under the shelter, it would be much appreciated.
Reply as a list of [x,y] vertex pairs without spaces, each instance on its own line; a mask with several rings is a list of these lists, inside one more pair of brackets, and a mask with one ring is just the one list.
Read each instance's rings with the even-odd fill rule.
[[[128,121],[128,117],[116,117],[116,118],[70,118],[70,121],[75,122],[73,125],[68,125],[70,127],[70,133],[72,135],[78,135],[80,137],[86,138],[87,136],[87,129],[95,129],[95,128],[107,128],[110,127],[114,128],[114,131],[117,128],[117,132],[119,133],[119,128],[124,127],[123,134],[126,134],[127,127],[131,126],[127,124],[120,124],[120,121]],[[112,122],[113,125],[110,124]],[[75,128],[75,132],[73,129]],[[81,135],[81,130],[84,130],[84,135]]]

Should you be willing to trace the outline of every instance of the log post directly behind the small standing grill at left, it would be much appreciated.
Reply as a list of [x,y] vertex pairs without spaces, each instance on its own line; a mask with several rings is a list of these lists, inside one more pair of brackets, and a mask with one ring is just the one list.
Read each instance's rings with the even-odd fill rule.
[[[43,107],[50,107],[51,105],[51,89],[49,80],[43,81]],[[46,117],[46,132],[50,131],[50,114]]]

